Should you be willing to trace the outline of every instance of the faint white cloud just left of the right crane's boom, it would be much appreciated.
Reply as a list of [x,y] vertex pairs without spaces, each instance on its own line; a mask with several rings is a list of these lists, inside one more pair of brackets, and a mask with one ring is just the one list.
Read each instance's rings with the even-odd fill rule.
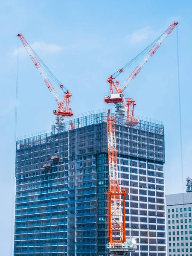
[[141,41],[146,40],[154,31],[150,26],[145,26],[143,29],[136,30],[131,35],[127,35],[126,38],[130,44],[139,44]]

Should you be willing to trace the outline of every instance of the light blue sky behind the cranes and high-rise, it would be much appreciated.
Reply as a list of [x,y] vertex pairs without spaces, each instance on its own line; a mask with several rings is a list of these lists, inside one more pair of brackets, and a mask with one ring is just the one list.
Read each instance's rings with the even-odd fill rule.
[[[0,6],[0,247],[10,255],[17,34],[22,33],[73,93],[75,114],[106,108],[106,78],[134,58],[173,22],[179,22],[183,171],[191,176],[192,2],[11,1]],[[21,44],[20,44],[21,46]],[[55,102],[24,49],[20,52],[17,137],[47,129]],[[137,64],[135,64],[136,66]],[[125,75],[134,70],[132,66]],[[120,82],[125,77],[119,77]],[[135,113],[162,120],[166,142],[166,194],[183,192],[180,169],[176,29],[127,88]],[[60,95],[62,96],[62,95]],[[183,185],[183,186],[182,186]]]

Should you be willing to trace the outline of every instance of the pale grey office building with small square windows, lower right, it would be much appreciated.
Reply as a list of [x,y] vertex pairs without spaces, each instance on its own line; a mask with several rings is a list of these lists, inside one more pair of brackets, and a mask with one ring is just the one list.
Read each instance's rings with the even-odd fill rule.
[[192,256],[192,193],[166,195],[168,256]]

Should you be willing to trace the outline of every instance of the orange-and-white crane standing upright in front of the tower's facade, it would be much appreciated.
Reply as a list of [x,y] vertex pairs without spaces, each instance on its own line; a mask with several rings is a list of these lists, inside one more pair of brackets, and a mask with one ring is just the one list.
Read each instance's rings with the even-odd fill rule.
[[107,248],[110,255],[127,255],[137,249],[136,239],[125,237],[125,196],[127,189],[119,188],[115,116],[111,118],[108,110],[107,116],[108,132],[108,166],[109,166],[109,189],[107,190],[107,218],[108,218],[108,239]]

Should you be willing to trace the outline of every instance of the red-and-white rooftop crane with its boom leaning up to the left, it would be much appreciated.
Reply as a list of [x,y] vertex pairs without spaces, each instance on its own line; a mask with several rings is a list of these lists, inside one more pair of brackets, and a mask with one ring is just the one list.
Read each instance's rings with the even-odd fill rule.
[[[49,91],[52,93],[52,96],[54,97],[55,101],[58,104],[58,109],[53,111],[54,115],[56,115],[56,116],[73,116],[74,114],[72,113],[71,108],[69,107],[70,97],[72,96],[72,94],[67,90],[66,87],[64,87],[63,84],[61,84],[61,82],[53,75],[53,73],[44,64],[44,62],[38,57],[38,55],[34,52],[34,50],[27,43],[24,36],[22,34],[18,34],[17,36],[20,38],[20,41],[22,42],[22,44],[25,47],[26,51],[28,52],[30,58],[32,59],[33,63],[35,64],[35,67],[37,68],[37,70],[40,73],[41,77],[43,78],[45,84],[47,85]],[[49,75],[53,79],[55,84],[57,84],[58,87],[65,94],[63,100],[61,100],[59,98],[56,89],[52,86],[47,75]]]

